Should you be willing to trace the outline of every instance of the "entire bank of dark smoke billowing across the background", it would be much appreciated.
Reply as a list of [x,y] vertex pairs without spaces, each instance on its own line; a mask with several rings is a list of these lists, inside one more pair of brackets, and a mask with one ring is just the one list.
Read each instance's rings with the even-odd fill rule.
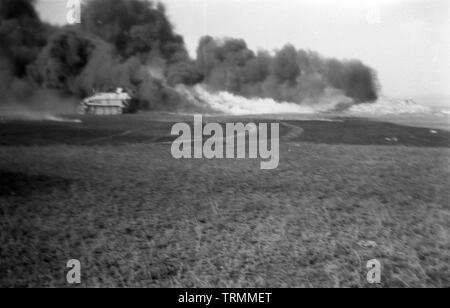
[[207,97],[205,89],[218,92],[211,99],[229,97],[241,105],[254,104],[240,96],[260,98],[255,102],[271,112],[276,102],[321,110],[330,101],[346,108],[377,98],[376,75],[361,62],[325,59],[291,45],[255,53],[244,40],[204,37],[197,59],[191,59],[164,5],[153,1],[86,0],[81,25],[59,28],[41,22],[33,5],[34,0],[0,0],[3,105],[40,99],[66,104],[67,98],[116,87],[131,92],[140,108],[183,111],[226,111],[193,103],[192,95]]

